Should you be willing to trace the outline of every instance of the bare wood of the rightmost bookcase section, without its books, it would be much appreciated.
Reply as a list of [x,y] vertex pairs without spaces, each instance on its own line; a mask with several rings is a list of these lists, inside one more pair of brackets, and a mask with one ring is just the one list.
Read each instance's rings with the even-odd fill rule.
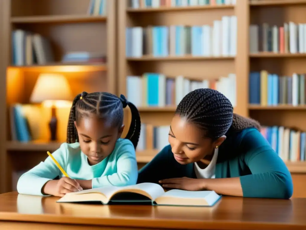
[[[279,28],[290,21],[296,24],[306,23],[304,20],[305,0],[251,0],[249,9],[250,25],[261,27],[263,23],[268,23],[269,26],[276,25]],[[274,15],[278,16],[274,17]],[[306,53],[299,51],[281,53],[259,50],[258,53],[250,52],[249,69],[250,71],[266,70],[278,76],[292,76],[293,73],[303,74],[306,71],[305,58]],[[300,131],[306,131],[305,112],[305,105],[248,105],[248,116],[259,121],[261,125],[284,126]],[[286,165],[293,178],[293,196],[306,197],[306,187],[303,182],[306,179],[306,162],[288,161]]]

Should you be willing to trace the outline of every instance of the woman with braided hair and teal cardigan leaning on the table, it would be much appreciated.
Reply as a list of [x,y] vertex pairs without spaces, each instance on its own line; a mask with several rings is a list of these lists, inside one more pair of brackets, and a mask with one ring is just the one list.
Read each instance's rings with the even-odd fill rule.
[[233,114],[233,106],[223,94],[194,90],[177,106],[170,125],[170,145],[139,171],[137,183],[289,199],[291,174],[259,129],[256,121]]

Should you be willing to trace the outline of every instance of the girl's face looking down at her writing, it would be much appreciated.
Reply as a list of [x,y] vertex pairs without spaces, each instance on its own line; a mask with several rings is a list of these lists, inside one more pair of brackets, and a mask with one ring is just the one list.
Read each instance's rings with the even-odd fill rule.
[[87,156],[88,163],[95,165],[112,153],[124,126],[112,127],[111,123],[97,116],[81,118],[76,125],[80,148]]

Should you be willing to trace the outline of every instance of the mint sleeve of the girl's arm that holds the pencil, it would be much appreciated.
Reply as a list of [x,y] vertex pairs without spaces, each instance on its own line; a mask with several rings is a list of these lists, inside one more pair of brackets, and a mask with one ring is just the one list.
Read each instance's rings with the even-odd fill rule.
[[[65,159],[67,155],[67,144],[63,143],[61,147],[52,153],[53,157],[65,169]],[[47,154],[47,153],[46,153]],[[34,168],[22,174],[17,182],[17,191],[20,194],[45,195],[43,186],[50,180],[53,180],[61,174],[61,171],[55,165],[50,156],[44,162],[40,162]]]

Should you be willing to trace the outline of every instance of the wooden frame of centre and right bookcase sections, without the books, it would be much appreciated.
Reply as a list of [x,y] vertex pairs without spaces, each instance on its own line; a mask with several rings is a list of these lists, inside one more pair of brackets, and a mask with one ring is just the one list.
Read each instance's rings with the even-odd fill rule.
[[[166,1],[167,2],[167,1]],[[166,3],[167,4],[167,3]],[[304,4],[304,5],[303,5]],[[183,75],[190,79],[211,79],[217,76],[227,76],[229,73],[236,74],[236,105],[234,112],[242,116],[252,117],[263,125],[299,125],[304,128],[303,122],[304,105],[279,105],[262,106],[249,104],[249,79],[250,71],[268,69],[269,71],[281,71],[282,74],[292,74],[292,71],[303,72],[302,64],[305,53],[273,53],[249,51],[249,26],[252,23],[261,24],[265,21],[271,23],[282,23],[284,20],[298,20],[297,16],[306,6],[306,1],[298,0],[259,0],[259,1],[237,1],[236,5],[208,5],[208,6],[159,6],[159,7],[131,7],[128,1],[118,6],[118,66],[120,93],[129,95],[127,77],[143,77],[147,73],[159,73],[170,78]],[[299,9],[297,9],[300,7]],[[273,14],[272,14],[272,13]],[[298,14],[296,14],[298,12]],[[142,55],[126,55],[125,42],[129,41],[127,27],[148,27],[148,26],[168,26],[171,25],[213,25],[214,20],[220,20],[224,15],[235,15],[237,17],[237,51],[235,56],[193,56],[190,54],[176,56],[157,56],[147,54],[144,48]],[[273,15],[270,16],[270,15]],[[275,15],[278,15],[275,17]],[[291,15],[291,16],[290,16]],[[305,23],[303,21],[303,23]],[[137,33],[137,32],[136,32]],[[146,33],[146,32],[145,32]],[[169,32],[170,33],[170,32]],[[137,40],[137,42],[145,42]],[[171,38],[170,38],[171,43]],[[146,45],[144,44],[144,47]],[[171,46],[171,44],[169,44]],[[138,50],[139,51],[139,50]],[[205,74],[202,74],[205,73]],[[205,77],[203,77],[203,75]],[[136,85],[138,83],[135,83]],[[138,85],[139,86],[139,85]],[[131,90],[130,90],[131,91]],[[140,97],[140,95],[138,95]],[[175,105],[166,106],[139,106],[141,120],[144,124],[153,126],[169,125]],[[306,129],[305,129],[306,130]],[[147,131],[146,131],[147,132]],[[150,135],[146,133],[147,135]],[[166,137],[164,137],[166,138]],[[154,155],[156,149],[142,149],[142,153],[147,152]],[[286,161],[293,176],[294,195],[296,197],[306,197],[304,189],[299,185],[306,176],[306,163]]]

